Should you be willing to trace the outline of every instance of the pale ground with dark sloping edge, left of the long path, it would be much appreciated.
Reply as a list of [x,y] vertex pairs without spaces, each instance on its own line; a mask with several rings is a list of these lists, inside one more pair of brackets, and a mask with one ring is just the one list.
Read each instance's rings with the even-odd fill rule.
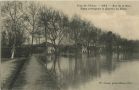
[[25,61],[26,58],[6,58],[6,61],[1,63],[1,89],[7,90],[12,86]]

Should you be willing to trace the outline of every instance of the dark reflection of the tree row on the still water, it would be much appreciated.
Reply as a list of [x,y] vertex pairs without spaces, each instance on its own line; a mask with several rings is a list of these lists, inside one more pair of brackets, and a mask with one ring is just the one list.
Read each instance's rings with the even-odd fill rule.
[[111,74],[119,67],[118,62],[125,58],[125,56],[122,57],[123,55],[118,55],[107,53],[95,56],[85,54],[48,56],[47,71],[51,77],[55,78],[55,84],[52,87],[57,86],[58,89],[66,90],[68,87],[78,87],[93,81],[93,79],[100,78],[103,72]]

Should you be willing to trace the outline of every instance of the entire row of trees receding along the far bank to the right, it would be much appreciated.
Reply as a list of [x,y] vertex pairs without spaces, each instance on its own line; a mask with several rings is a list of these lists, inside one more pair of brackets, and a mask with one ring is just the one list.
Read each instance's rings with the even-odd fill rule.
[[[119,35],[106,32],[78,15],[69,18],[63,12],[48,8],[35,2],[5,1],[1,4],[2,47],[10,47],[11,58],[14,58],[16,47],[25,42],[34,43],[34,38],[44,38],[53,44],[55,51],[64,38],[70,39],[76,49],[78,45],[86,47],[105,47],[106,50],[133,50],[138,41],[127,40]],[[47,43],[46,43],[47,51]]]

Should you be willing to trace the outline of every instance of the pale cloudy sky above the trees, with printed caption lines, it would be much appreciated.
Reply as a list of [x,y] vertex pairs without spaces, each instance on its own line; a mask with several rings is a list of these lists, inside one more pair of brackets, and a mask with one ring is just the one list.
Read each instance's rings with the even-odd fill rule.
[[[77,14],[91,21],[105,31],[112,31],[121,37],[139,40],[139,1],[42,1],[48,7],[64,12],[69,17]],[[126,10],[81,10],[83,5],[128,5]],[[92,8],[87,6],[86,8]]]

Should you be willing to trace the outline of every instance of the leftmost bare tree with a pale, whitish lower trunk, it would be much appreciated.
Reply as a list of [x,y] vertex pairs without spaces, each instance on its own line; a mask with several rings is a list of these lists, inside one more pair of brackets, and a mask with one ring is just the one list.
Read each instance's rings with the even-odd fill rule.
[[8,37],[8,45],[11,47],[11,58],[14,58],[16,46],[25,41],[23,26],[23,4],[22,2],[4,2],[1,7],[3,26]]

